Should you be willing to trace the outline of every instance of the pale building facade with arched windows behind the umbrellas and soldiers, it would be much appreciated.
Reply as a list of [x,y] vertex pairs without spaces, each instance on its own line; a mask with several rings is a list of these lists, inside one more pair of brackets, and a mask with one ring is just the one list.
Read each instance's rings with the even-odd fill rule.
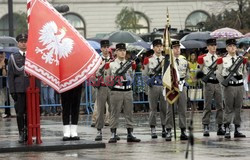
[[[231,0],[233,1],[233,0]],[[13,0],[14,29],[18,28],[21,13],[26,12],[26,0]],[[124,7],[133,8],[140,15],[141,28],[137,33],[152,32],[163,28],[167,9],[173,28],[198,30],[211,14],[223,12],[227,1],[217,0],[49,0],[53,5],[67,4],[70,11],[64,16],[86,38],[103,36],[119,30],[115,20]],[[43,14],[43,13],[41,13]],[[21,17],[23,18],[23,17]],[[17,34],[15,32],[15,34]],[[0,36],[8,35],[8,1],[0,0]]]

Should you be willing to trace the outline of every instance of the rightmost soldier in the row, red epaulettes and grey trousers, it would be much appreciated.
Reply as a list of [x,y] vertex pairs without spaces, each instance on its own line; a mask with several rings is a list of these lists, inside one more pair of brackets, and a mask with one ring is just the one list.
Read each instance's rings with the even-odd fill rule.
[[[226,41],[227,56],[218,59],[218,73],[217,78],[223,81],[230,74],[229,68],[237,62],[239,56],[236,54],[236,40],[228,39]],[[230,124],[233,119],[235,126],[234,137],[244,138],[244,134],[239,132],[239,127],[241,123],[240,111],[243,103],[243,77],[247,75],[246,70],[247,59],[243,59],[243,64],[240,65],[238,70],[234,73],[234,80],[230,80],[227,87],[223,87],[224,99],[225,99],[225,114],[224,114],[224,126],[225,126],[225,138],[231,138],[230,135]]]

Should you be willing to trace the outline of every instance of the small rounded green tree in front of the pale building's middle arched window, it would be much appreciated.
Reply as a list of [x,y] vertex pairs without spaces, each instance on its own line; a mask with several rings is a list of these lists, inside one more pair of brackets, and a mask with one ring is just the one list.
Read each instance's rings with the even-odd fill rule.
[[136,32],[142,27],[142,25],[138,24],[141,18],[142,16],[136,14],[133,8],[124,7],[116,16],[115,23],[120,30]]

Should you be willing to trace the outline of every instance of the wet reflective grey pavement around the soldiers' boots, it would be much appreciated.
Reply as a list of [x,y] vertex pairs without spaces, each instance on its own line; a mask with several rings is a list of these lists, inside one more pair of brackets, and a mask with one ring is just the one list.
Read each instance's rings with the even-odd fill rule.
[[[190,112],[188,115],[188,124]],[[110,138],[109,127],[103,129],[103,142],[106,143],[106,148],[103,149],[80,149],[66,151],[51,151],[51,152],[20,152],[20,153],[2,153],[0,159],[11,160],[71,160],[71,159],[86,159],[86,160],[151,160],[151,159],[185,159],[187,141],[180,141],[180,130],[177,127],[177,140],[172,139],[171,142],[166,142],[161,137],[161,126],[158,116],[158,139],[152,140],[150,137],[150,129],[148,127],[148,114],[137,113],[134,115],[136,137],[142,140],[141,143],[127,143],[125,119],[120,119],[120,128],[118,134],[121,140],[117,144],[108,144]],[[246,134],[247,138],[236,139],[231,138],[226,140],[223,137],[216,135],[214,118],[215,112],[212,115],[210,125],[210,137],[202,136],[202,113],[195,112],[194,114],[194,159],[199,160],[249,160],[250,159],[250,109],[242,111],[242,127],[241,131]],[[83,140],[94,141],[96,129],[90,127],[91,116],[81,115],[79,120],[79,136]],[[42,140],[44,143],[48,141],[61,141],[62,138],[62,121],[60,116],[42,117],[41,118]],[[178,119],[176,119],[178,126]],[[17,142],[17,126],[16,119],[0,119],[0,143],[8,141],[11,144]],[[233,137],[233,134],[231,133]],[[191,153],[189,151],[189,158]]]

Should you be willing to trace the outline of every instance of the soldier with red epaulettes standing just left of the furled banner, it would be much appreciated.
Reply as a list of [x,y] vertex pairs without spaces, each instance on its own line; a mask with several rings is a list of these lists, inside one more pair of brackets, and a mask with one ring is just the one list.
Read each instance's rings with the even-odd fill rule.
[[162,69],[161,63],[164,59],[162,56],[162,41],[156,39],[152,42],[154,54],[151,57],[144,59],[144,69],[142,71],[143,76],[149,77],[148,81],[148,99],[149,99],[149,125],[151,128],[151,138],[157,138],[156,134],[156,115],[157,104],[159,101],[160,118],[162,125],[162,137],[166,137],[165,124],[166,124],[166,100],[162,94]]

